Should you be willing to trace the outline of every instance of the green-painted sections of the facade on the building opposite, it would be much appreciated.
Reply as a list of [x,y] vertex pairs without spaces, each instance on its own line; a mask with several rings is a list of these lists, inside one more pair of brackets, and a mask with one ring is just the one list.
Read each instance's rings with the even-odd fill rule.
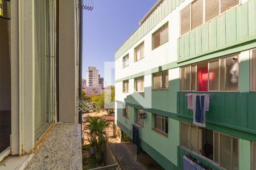
[[[183,1],[163,1],[118,49],[115,59],[142,39],[181,2]],[[256,0],[247,1],[188,32],[181,36],[177,43],[177,61],[115,80],[120,83],[138,76],[169,70],[168,90],[152,90],[152,87],[146,87],[152,90],[152,108],[143,108],[132,95],[125,98],[125,103],[117,101],[119,106],[130,106],[129,118],[123,117],[122,109],[117,109],[117,125],[131,137],[135,121],[134,108],[146,111],[147,118],[140,129],[143,150],[165,169],[182,169],[183,155],[191,152],[180,147],[180,121],[192,124],[193,113],[187,109],[187,97],[184,95],[188,92],[180,91],[180,66],[244,52],[245,54],[240,56],[239,91],[207,92],[213,95],[210,97],[210,110],[207,112],[207,129],[239,138],[239,167],[242,170],[250,169],[250,144],[251,141],[256,142],[256,92],[250,92],[248,50],[256,48]],[[169,118],[168,137],[152,130],[154,114]],[[202,156],[191,155],[213,169],[220,169]]]

